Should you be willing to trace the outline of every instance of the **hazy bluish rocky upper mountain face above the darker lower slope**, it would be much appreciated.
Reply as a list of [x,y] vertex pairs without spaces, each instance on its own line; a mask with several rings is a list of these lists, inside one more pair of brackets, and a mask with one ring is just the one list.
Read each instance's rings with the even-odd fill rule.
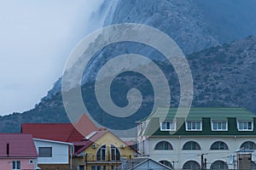
[[[102,7],[92,14],[91,20],[99,20],[103,26],[122,23],[153,26],[172,37],[184,54],[192,54],[225,42],[256,35],[255,6],[254,0],[160,0],[158,3],[155,3],[155,0],[106,0]],[[141,49],[133,49],[136,52],[139,50]],[[150,55],[151,51],[143,50],[142,53]],[[101,57],[94,59],[90,67],[101,67],[101,60]],[[95,78],[92,71],[88,72],[90,74],[84,75],[84,82],[86,79],[91,81]],[[59,92],[61,79],[55,82],[54,88],[49,90],[45,98],[49,99]]]

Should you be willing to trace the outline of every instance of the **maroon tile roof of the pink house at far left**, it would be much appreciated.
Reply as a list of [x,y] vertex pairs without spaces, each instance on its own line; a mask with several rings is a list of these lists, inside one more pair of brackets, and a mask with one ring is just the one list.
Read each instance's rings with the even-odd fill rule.
[[38,157],[32,135],[0,133],[0,157]]

